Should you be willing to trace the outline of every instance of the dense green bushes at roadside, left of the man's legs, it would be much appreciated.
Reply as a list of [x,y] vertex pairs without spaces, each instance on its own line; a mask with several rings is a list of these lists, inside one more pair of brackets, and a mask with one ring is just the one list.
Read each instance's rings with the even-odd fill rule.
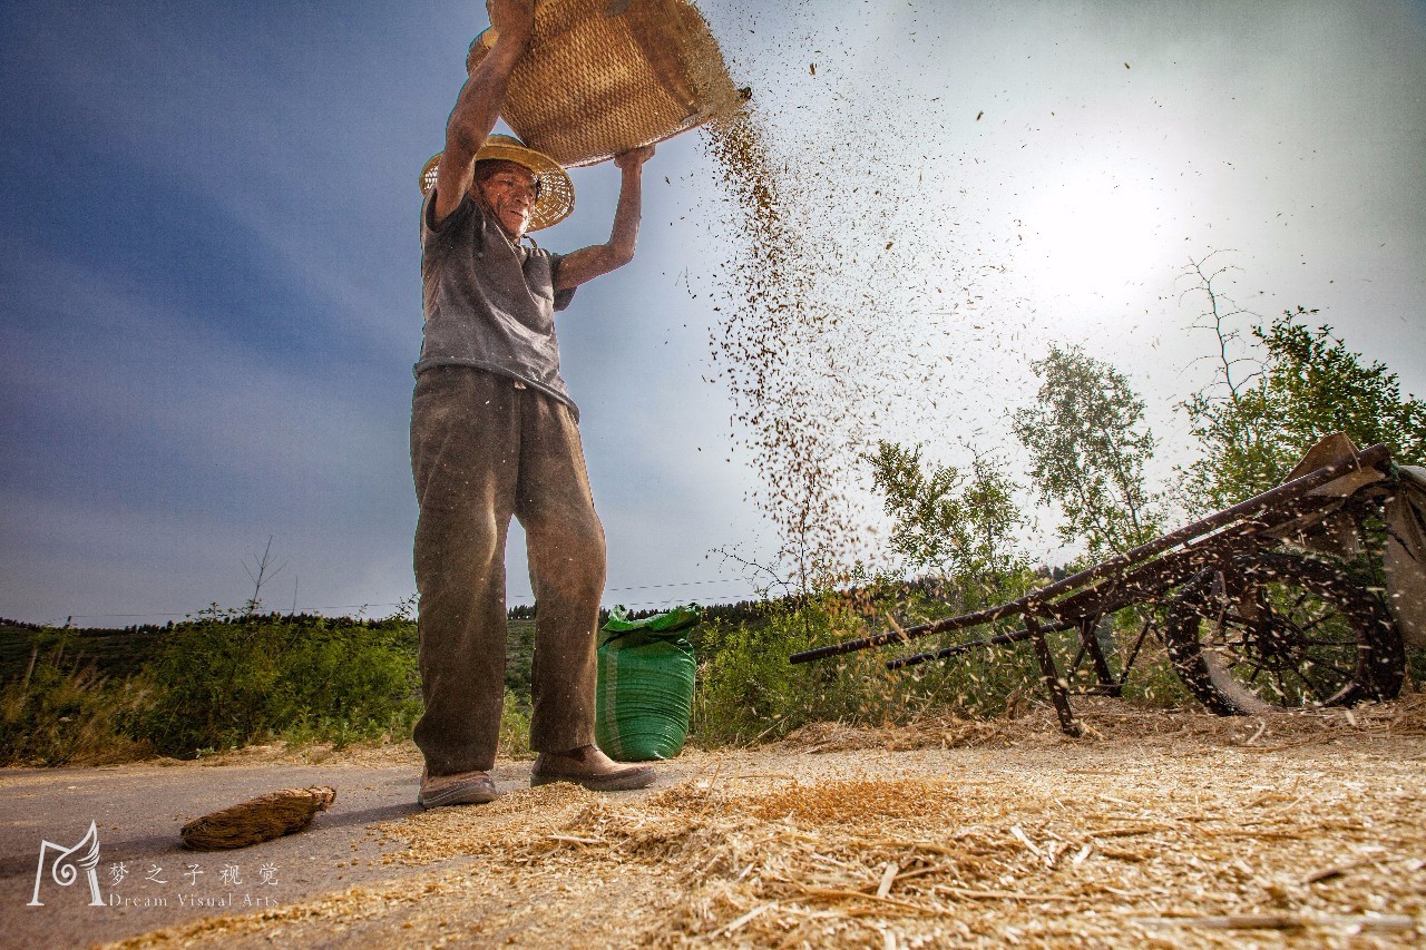
[[138,733],[167,755],[289,733],[344,745],[409,735],[419,715],[414,628],[210,618],[167,633],[147,669]]

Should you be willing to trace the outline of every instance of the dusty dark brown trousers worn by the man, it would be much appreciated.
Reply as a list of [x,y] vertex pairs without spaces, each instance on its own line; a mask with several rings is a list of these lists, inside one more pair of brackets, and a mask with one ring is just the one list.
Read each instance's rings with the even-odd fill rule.
[[505,700],[505,538],[525,528],[538,603],[530,746],[566,752],[595,735],[595,630],[605,532],[568,405],[493,372],[435,367],[411,402],[421,516],[416,746],[432,776],[486,772]]

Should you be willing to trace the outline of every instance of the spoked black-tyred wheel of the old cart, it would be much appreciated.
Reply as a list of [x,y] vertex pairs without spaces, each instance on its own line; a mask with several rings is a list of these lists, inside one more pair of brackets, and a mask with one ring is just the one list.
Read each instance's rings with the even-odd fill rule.
[[1390,699],[1406,655],[1382,602],[1345,571],[1281,551],[1184,585],[1165,640],[1189,692],[1221,716]]

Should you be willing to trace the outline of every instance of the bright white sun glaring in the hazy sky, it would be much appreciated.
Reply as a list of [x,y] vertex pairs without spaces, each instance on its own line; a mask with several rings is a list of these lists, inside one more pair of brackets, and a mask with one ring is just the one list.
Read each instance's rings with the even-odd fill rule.
[[1047,298],[1122,304],[1174,267],[1172,204],[1148,170],[1052,173],[1020,221],[1027,275]]

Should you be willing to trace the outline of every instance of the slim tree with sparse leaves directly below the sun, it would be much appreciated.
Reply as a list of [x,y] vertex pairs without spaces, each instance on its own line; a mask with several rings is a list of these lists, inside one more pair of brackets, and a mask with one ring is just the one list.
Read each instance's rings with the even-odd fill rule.
[[1030,451],[1040,501],[1064,512],[1061,541],[1084,541],[1094,558],[1149,541],[1161,516],[1144,488],[1154,456],[1144,401],[1124,374],[1078,347],[1051,347],[1030,365],[1041,379],[1037,402],[1015,411],[1012,431]]

